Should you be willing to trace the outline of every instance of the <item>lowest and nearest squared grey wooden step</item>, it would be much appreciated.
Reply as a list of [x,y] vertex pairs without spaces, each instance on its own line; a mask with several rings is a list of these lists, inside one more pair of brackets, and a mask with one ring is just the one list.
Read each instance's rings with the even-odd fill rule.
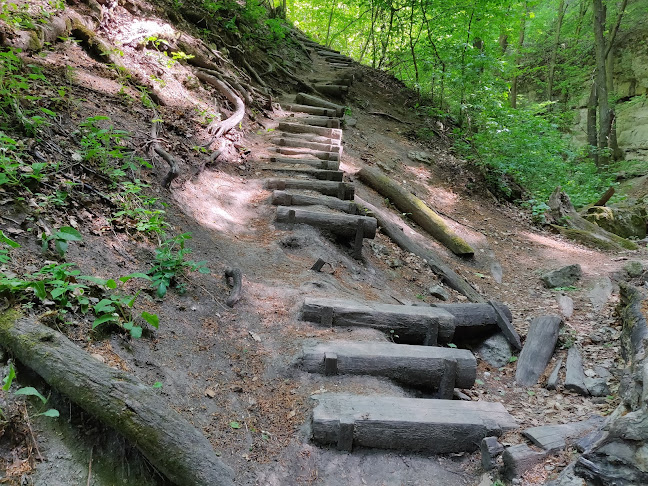
[[313,410],[313,440],[353,447],[472,452],[484,437],[515,429],[515,419],[499,402],[464,402],[323,393]]

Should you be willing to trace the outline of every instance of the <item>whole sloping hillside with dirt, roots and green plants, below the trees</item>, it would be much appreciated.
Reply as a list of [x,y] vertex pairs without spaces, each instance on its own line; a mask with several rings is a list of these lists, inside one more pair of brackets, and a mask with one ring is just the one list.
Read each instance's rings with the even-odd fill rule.
[[[416,426],[385,432],[393,444],[372,433],[354,436],[369,414],[351,426],[353,451],[337,450],[342,439],[313,440],[313,410],[331,393],[461,398],[444,400],[450,410],[502,404],[517,426],[483,427],[497,429],[506,446],[525,443],[521,432],[529,427],[621,414],[621,352],[629,348],[616,310],[619,286],[645,286],[645,239],[630,245],[635,250],[601,250],[567,239],[557,225],[535,224],[493,195],[483,172],[454,152],[453,126],[417,111],[416,93],[318,47],[257,3],[17,3],[26,7],[4,6],[0,17],[0,345],[4,376],[14,368],[17,375],[0,399],[4,482],[215,484],[186,467],[196,464],[194,452],[207,450],[205,463],[222,467],[221,484],[490,485],[514,476],[543,484],[575,459],[573,449],[543,455],[519,475],[502,469],[500,477],[482,469],[472,436],[461,444],[466,451],[440,454],[435,444],[454,439],[434,430],[421,447],[399,447],[417,439],[409,435]],[[367,168],[434,210],[442,232],[473,254],[457,255],[432,238],[418,219],[421,206],[402,209],[398,197],[376,192]],[[320,182],[328,199],[313,190]],[[320,199],[299,206],[294,195],[282,199],[279,222],[277,191]],[[296,224],[303,217],[323,222]],[[403,250],[387,235],[390,222],[429,256]],[[319,259],[325,263],[313,270]],[[544,273],[572,264],[582,268],[579,280],[543,285]],[[236,278],[226,276],[236,270],[240,299],[233,298]],[[319,298],[389,304],[397,317],[390,321],[385,311],[368,325],[347,326],[337,311],[322,311],[321,323],[306,321],[305,302]],[[484,334],[498,329],[497,319],[482,314],[495,315],[488,301],[505,317],[510,310],[523,343],[534,318],[559,316],[555,352],[538,384],[515,382],[520,355],[505,338],[497,344],[500,364],[486,360]],[[444,320],[446,304],[485,306],[478,332],[461,336],[453,316]],[[399,331],[406,318],[396,306],[424,315],[428,333]],[[425,313],[439,309],[430,324]],[[56,338],[10,340],[15,313]],[[448,326],[456,339],[443,335]],[[66,370],[46,348],[44,361],[30,354],[61,334],[89,365]],[[447,352],[474,351],[473,386],[441,383],[443,372],[428,377],[436,380],[431,389],[408,384],[408,369],[400,381],[304,369],[304,346],[436,339]],[[605,382],[602,396],[544,387],[572,348],[587,376]],[[24,358],[16,359],[16,349]],[[45,364],[30,369],[25,360]],[[343,366],[342,358],[333,361]],[[103,384],[104,372],[113,381]],[[119,383],[130,379],[142,402],[115,405],[114,422],[97,418],[110,413]],[[74,388],[95,381],[92,392]],[[33,387],[47,404],[16,395],[21,387]],[[164,414],[158,430],[130,426],[142,404]],[[58,418],[39,415],[50,408]],[[185,451],[184,442],[165,439],[164,424],[183,440],[206,441]],[[193,429],[199,434],[191,436]]]

